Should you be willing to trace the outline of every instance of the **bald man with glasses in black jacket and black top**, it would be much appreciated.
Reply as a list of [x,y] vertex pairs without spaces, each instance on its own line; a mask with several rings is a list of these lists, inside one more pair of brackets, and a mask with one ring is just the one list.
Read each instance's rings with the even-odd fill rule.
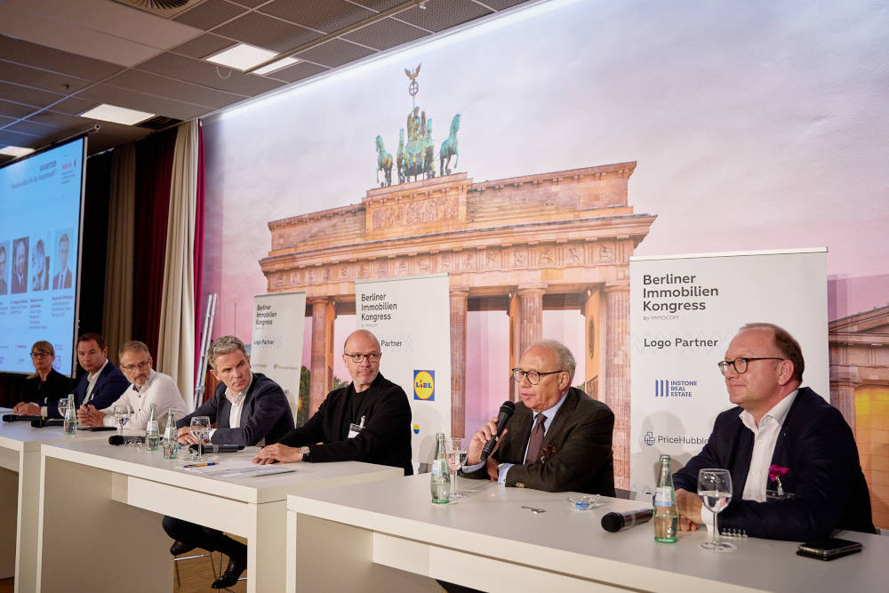
[[314,416],[253,462],[366,461],[411,476],[411,405],[404,389],[380,374],[380,356],[372,333],[349,334],[342,359],[352,382],[327,394]]

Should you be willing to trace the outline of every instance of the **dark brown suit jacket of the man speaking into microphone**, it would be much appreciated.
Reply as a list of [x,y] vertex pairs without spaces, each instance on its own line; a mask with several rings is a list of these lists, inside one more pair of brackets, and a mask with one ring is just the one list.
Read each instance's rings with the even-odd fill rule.
[[[546,461],[524,465],[533,416],[528,406],[518,402],[516,413],[507,422],[507,433],[493,454],[501,463],[516,464],[507,472],[506,485],[547,492],[614,495],[611,408],[580,389],[569,388],[543,437],[541,452],[548,446],[555,447],[555,452]],[[488,474],[483,466],[466,476],[487,479]]]

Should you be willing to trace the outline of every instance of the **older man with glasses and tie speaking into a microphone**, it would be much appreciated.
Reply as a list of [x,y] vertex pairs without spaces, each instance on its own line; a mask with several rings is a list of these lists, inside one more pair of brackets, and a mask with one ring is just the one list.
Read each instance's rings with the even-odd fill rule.
[[521,397],[486,462],[492,419],[472,436],[462,475],[548,492],[614,495],[611,409],[571,387],[571,350],[555,340],[533,343],[512,370]]

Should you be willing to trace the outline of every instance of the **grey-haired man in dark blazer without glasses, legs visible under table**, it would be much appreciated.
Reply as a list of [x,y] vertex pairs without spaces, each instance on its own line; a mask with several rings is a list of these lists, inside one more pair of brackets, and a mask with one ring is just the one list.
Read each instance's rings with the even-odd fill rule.
[[[194,416],[210,416],[216,429],[210,442],[217,445],[271,444],[293,429],[293,414],[284,390],[261,373],[252,373],[244,342],[235,336],[222,336],[210,345],[207,360],[213,376],[220,381],[213,397],[180,421],[179,441],[196,445],[189,431]],[[234,585],[247,568],[247,547],[224,533],[173,517],[164,517],[164,531],[175,540],[170,548],[179,556],[203,548],[228,556],[228,567],[213,589]]]

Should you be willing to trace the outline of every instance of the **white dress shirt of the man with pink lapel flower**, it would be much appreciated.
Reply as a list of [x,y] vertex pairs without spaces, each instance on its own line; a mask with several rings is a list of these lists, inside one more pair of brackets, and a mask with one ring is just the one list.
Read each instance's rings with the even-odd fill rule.
[[[744,493],[741,494],[742,500],[765,502],[765,490],[768,486],[769,468],[772,465],[775,445],[778,444],[781,426],[796,397],[797,389],[794,389],[759,419],[758,426],[753,420],[753,414],[747,410],[738,414],[744,426],[753,433],[753,453],[750,456],[750,469],[747,472]],[[713,525],[713,513],[704,507],[701,507],[701,522],[710,527]]]

